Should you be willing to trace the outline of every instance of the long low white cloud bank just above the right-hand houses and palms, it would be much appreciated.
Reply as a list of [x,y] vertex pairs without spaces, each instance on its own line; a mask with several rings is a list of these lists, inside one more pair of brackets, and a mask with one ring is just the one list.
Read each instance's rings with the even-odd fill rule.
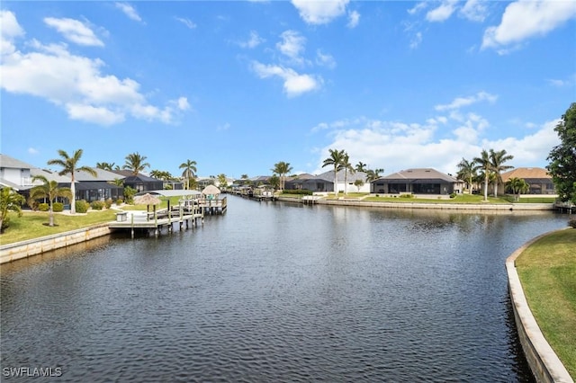
[[501,139],[482,139],[488,121],[473,113],[463,122],[453,121],[451,130],[442,137],[436,122],[418,124],[365,118],[322,122],[312,130],[326,131],[330,142],[317,149],[318,167],[313,173],[326,171],[321,166],[330,148],[345,149],[353,164],[362,161],[371,169],[384,168],[384,174],[410,167],[433,167],[455,174],[456,165],[463,157],[472,160],[480,155],[482,148],[506,149],[514,156],[511,165],[542,166],[550,149],[558,145],[554,132],[557,120],[540,125],[536,132],[524,137]]

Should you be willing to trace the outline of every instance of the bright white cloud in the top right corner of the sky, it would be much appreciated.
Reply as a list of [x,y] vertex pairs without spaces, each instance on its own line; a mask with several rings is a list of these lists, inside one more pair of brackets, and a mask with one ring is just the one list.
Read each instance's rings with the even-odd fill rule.
[[499,49],[544,36],[574,17],[574,1],[517,1],[506,7],[500,25],[484,31],[482,49]]

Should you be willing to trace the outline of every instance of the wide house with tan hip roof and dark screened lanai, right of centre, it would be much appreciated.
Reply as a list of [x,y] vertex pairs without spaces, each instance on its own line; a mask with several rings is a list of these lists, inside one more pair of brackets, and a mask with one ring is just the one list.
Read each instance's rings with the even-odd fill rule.
[[431,168],[407,169],[371,183],[371,192],[383,194],[452,194],[462,192],[464,183]]

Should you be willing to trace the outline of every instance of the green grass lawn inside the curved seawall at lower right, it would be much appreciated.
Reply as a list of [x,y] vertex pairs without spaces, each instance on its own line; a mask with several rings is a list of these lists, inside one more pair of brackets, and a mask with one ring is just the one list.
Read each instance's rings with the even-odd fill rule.
[[516,266],[536,322],[576,379],[576,229],[539,239]]

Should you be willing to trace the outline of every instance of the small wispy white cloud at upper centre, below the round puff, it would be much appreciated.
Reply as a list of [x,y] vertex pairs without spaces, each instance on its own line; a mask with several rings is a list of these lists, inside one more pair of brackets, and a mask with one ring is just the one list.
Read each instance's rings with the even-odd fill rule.
[[288,97],[295,97],[320,88],[320,77],[300,75],[291,68],[264,65],[257,61],[252,63],[252,69],[260,78],[280,77],[284,80],[284,93]]

